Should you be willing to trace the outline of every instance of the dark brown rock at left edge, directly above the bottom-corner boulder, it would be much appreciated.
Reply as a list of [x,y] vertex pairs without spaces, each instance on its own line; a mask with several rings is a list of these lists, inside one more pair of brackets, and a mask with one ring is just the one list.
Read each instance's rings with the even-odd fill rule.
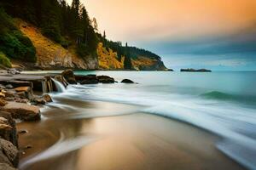
[[15,146],[18,146],[16,123],[13,120],[11,113],[0,111],[0,137],[10,141]]

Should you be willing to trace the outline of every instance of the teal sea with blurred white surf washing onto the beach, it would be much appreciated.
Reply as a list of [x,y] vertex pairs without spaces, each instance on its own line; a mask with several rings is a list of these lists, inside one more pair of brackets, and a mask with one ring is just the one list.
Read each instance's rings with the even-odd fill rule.
[[137,84],[70,85],[56,95],[142,105],[144,113],[166,116],[218,135],[218,150],[248,169],[256,169],[256,71],[76,74],[108,75],[118,82],[129,78]]

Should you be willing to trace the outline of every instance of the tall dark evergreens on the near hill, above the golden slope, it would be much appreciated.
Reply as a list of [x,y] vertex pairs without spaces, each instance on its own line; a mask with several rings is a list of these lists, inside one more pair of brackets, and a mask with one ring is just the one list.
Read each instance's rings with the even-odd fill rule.
[[2,0],[1,5],[13,17],[38,26],[44,36],[64,48],[76,45],[81,57],[96,54],[96,20],[90,20],[79,0],[73,0],[71,5],[65,0]]

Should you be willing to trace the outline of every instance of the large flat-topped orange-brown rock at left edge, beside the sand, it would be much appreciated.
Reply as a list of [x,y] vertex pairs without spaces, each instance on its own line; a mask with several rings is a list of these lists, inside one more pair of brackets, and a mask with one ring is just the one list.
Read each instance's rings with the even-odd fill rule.
[[16,119],[24,121],[40,120],[40,110],[38,106],[9,102],[8,105],[5,105],[0,109],[2,109],[2,111],[10,112],[13,118]]

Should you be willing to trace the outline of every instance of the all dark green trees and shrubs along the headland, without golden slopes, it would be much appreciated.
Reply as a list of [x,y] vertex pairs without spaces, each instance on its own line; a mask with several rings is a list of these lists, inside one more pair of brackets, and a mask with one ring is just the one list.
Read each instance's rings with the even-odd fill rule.
[[[96,57],[97,44],[103,42],[106,48],[117,52],[119,60],[122,56],[125,57],[125,69],[132,69],[131,59],[137,59],[138,56],[160,59],[148,50],[108,40],[105,31],[103,35],[99,33],[96,19],[90,19],[84,4],[79,0],[73,0],[71,4],[65,0],[1,0],[0,8],[0,25],[9,28],[9,31],[5,31],[5,36],[0,37],[0,42],[5,44],[5,47],[2,45],[3,49],[0,45],[0,51],[12,58],[28,55],[30,61],[36,59],[32,42],[15,28],[9,15],[38,26],[44,36],[60,43],[63,48],[74,46],[81,57]],[[12,44],[18,45],[13,48]]]

